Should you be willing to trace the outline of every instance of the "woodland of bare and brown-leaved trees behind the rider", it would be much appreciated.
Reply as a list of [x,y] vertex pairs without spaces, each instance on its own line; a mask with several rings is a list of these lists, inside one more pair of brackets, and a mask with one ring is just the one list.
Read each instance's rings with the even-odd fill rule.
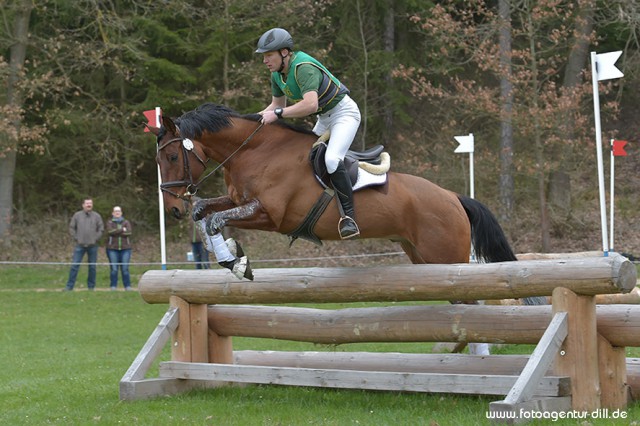
[[[453,137],[473,133],[475,197],[517,252],[601,249],[589,53],[622,50],[624,78],[599,84],[603,149],[608,171],[609,139],[629,142],[616,161],[614,249],[640,253],[637,0],[0,5],[0,260],[68,260],[67,224],[89,196],[104,219],[122,206],[146,253],[137,259],[157,261],[156,144],[142,111],[263,109],[269,75],[254,50],[272,27],[349,87],[363,115],[353,148],[384,144],[395,171],[468,194],[468,155],[453,153]],[[200,195],[224,191],[216,175]],[[187,222],[166,228],[186,247]],[[262,234],[242,234],[254,255],[290,255],[286,238]],[[296,255],[314,250],[306,244]],[[398,250],[371,244],[324,250]]]

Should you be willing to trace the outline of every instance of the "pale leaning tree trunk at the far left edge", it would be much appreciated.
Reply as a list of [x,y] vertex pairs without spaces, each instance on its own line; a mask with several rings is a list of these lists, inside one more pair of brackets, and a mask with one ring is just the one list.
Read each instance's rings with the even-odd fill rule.
[[[16,13],[13,39],[9,57],[9,84],[7,86],[7,105],[11,108],[22,108],[22,97],[17,90],[20,73],[24,67],[27,54],[27,39],[29,37],[29,17],[33,3],[23,0]],[[19,118],[12,123],[16,134],[20,134],[21,121]],[[11,231],[11,216],[13,211],[13,178],[16,170],[17,140],[7,137],[8,153],[0,158],[0,239],[7,237]]]

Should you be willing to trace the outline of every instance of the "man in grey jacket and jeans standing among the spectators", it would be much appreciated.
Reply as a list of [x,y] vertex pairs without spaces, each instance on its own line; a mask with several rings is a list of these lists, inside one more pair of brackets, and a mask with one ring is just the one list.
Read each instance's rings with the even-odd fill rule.
[[89,275],[87,277],[87,287],[89,290],[96,288],[96,261],[98,260],[98,240],[104,232],[104,223],[100,215],[93,211],[93,200],[85,198],[82,202],[82,210],[74,213],[69,222],[69,233],[76,241],[73,249],[73,260],[69,279],[65,290],[73,290],[76,284],[76,277],[80,269],[80,263],[84,254],[87,254],[89,263]]

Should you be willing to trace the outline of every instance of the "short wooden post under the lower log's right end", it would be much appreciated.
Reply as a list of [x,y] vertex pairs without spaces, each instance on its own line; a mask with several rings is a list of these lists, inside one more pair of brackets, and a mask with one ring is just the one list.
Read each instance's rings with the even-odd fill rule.
[[607,339],[598,334],[598,358],[602,408],[626,408],[630,395],[625,348],[611,346]]

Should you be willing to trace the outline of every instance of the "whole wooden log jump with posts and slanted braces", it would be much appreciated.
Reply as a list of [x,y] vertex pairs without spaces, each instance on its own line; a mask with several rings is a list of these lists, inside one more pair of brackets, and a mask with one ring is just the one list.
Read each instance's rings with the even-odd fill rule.
[[[502,395],[491,410],[623,408],[625,346],[640,346],[640,307],[596,306],[628,293],[635,266],[609,257],[490,264],[147,271],[138,289],[169,309],[120,382],[120,398],[225,383]],[[552,306],[418,305],[337,310],[283,303],[485,300],[552,296]],[[232,336],[326,344],[536,344],[528,355],[234,351]],[[146,378],[171,341],[171,361]],[[640,377],[640,374],[639,374]],[[638,381],[640,382],[640,380]],[[638,383],[640,385],[640,383]],[[640,388],[639,388],[640,389]]]

